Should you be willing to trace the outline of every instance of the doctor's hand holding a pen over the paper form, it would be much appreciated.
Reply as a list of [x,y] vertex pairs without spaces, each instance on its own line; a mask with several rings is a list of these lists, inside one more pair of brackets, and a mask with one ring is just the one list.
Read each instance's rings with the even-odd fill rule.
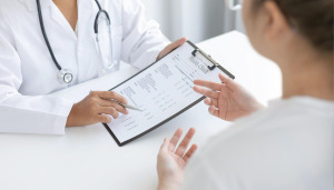
[[[110,99],[127,103],[127,100],[112,91],[91,91],[84,100],[75,103],[67,119],[67,127],[89,126],[98,122],[109,123],[118,118],[119,112],[127,114],[128,110]],[[108,116],[109,114],[109,116]]]

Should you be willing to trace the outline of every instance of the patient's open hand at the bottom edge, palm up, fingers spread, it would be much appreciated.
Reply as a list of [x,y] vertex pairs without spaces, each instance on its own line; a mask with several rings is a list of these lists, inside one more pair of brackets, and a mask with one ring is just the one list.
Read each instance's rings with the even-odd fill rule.
[[186,152],[195,134],[195,129],[190,128],[184,140],[176,147],[181,134],[183,130],[178,129],[170,140],[167,138],[164,140],[160,148],[157,162],[158,190],[178,190],[181,188],[185,167],[197,150],[197,146],[193,144]]

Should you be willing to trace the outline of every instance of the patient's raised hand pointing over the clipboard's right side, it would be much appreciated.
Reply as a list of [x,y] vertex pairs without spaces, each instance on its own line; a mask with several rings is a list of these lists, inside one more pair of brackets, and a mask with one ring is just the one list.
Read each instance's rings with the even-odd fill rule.
[[247,116],[264,106],[232,79],[219,73],[222,83],[195,80],[194,90],[205,97],[209,113],[226,121]]

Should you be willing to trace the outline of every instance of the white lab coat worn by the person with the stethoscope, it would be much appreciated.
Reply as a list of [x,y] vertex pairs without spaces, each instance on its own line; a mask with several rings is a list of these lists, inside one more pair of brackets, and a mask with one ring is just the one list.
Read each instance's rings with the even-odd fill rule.
[[[144,68],[168,43],[156,22],[144,17],[137,0],[99,0],[111,20],[114,59]],[[94,0],[78,0],[78,36],[52,0],[41,0],[45,28],[55,56],[73,74],[72,84],[99,76],[95,44]],[[100,30],[101,48],[108,46]],[[110,53],[105,53],[108,58]],[[118,70],[116,66],[115,70]],[[73,102],[47,96],[69,86],[57,80],[58,69],[42,38],[36,0],[0,1],[0,132],[62,134]]]

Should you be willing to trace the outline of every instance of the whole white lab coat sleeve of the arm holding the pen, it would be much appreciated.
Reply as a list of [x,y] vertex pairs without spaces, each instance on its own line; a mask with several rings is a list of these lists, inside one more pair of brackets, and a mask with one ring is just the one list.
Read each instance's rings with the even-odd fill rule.
[[[49,96],[24,96],[16,40],[0,10],[0,132],[62,134],[73,102]],[[36,76],[38,77],[38,74]]]

